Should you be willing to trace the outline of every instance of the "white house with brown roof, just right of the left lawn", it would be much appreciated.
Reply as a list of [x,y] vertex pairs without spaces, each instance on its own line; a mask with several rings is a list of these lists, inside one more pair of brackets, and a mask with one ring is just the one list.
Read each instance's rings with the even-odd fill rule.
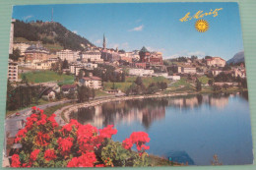
[[90,88],[99,89],[102,87],[101,79],[94,76],[84,77],[79,82],[80,85],[86,85]]

